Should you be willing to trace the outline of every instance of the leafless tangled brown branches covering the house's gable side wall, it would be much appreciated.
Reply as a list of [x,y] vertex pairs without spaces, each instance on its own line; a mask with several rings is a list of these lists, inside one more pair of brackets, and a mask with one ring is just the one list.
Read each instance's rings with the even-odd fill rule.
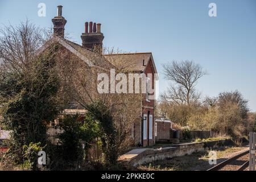
[[[112,148],[112,152],[116,152],[115,156],[118,156],[132,142],[131,128],[141,115],[141,111],[138,109],[141,108],[141,94],[98,93],[98,74],[105,73],[109,76],[110,68],[102,68],[100,65],[97,66],[97,63],[104,63],[108,60],[102,59],[102,56],[96,53],[91,53],[87,57],[95,64],[93,67],[88,67],[84,61],[77,59],[76,55],[66,49],[60,48],[60,52],[56,69],[61,79],[61,87],[65,97],[63,99],[67,99],[67,102],[73,102],[81,109],[86,109],[97,115],[102,125],[108,124],[110,130],[113,129],[111,126],[113,123],[114,133],[102,134],[102,137],[110,138],[114,135],[115,149]],[[119,57],[114,61],[112,60],[116,63],[112,68],[115,69],[116,74],[126,73],[127,70],[121,64],[123,60],[118,59]],[[97,103],[100,104],[97,105]],[[95,110],[95,106],[98,110]],[[110,120],[112,122],[108,122]],[[108,146],[104,148],[108,148]],[[115,162],[114,159],[112,162]]]

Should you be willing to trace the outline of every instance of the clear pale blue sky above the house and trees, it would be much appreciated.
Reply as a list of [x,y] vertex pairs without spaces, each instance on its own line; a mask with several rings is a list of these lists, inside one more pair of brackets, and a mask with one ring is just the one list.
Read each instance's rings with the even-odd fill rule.
[[[209,17],[209,3],[217,17]],[[46,4],[46,17],[38,4]],[[217,96],[238,89],[256,111],[256,1],[255,0],[0,0],[0,27],[31,20],[51,27],[56,6],[63,6],[68,20],[65,32],[81,43],[84,22],[102,24],[104,44],[127,52],[152,52],[160,74],[159,90],[166,90],[162,64],[193,60],[207,72],[197,89],[203,96]]]

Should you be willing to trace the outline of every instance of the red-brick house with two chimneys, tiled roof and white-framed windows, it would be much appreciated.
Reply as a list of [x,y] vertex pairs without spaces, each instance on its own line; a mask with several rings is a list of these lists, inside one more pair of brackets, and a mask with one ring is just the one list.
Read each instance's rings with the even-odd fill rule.
[[[102,68],[113,68],[112,60],[117,58],[123,61],[123,64],[129,63],[128,71],[136,73],[144,73],[148,80],[151,81],[151,89],[155,89],[156,67],[152,53],[122,53],[122,54],[111,54],[104,55],[102,53],[102,43],[104,35],[101,32],[101,24],[93,22],[85,22],[85,32],[82,33],[82,45],[73,43],[67,39],[64,39],[64,26],[67,20],[62,16],[62,6],[57,7],[57,16],[52,19],[53,22],[53,38],[50,40],[51,44],[59,43],[65,49],[72,52],[74,55],[79,57],[80,60],[88,64],[88,67],[102,67]],[[49,44],[48,44],[49,46]],[[44,51],[47,46],[42,47],[40,52]],[[94,55],[97,57],[97,63],[88,59],[88,55]],[[97,65],[96,65],[97,64]],[[148,75],[152,75],[149,77]],[[155,74],[155,75],[154,75]],[[149,86],[147,84],[147,92],[143,94],[141,107],[138,110],[141,111],[141,115],[135,119],[134,126],[131,128],[131,137],[134,140],[135,145],[148,146],[155,143],[154,135],[154,111],[155,111],[155,93],[148,92]],[[78,108],[72,108],[78,109]],[[70,109],[69,109],[70,110]]]

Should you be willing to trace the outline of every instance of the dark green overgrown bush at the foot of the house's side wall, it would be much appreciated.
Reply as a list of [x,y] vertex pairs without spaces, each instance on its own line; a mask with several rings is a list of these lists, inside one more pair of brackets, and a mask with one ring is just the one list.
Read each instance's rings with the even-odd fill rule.
[[56,126],[61,131],[56,138],[59,143],[49,148],[52,169],[78,169],[86,162],[85,156],[94,139],[100,137],[100,126],[90,114],[83,119],[79,115],[65,115]]

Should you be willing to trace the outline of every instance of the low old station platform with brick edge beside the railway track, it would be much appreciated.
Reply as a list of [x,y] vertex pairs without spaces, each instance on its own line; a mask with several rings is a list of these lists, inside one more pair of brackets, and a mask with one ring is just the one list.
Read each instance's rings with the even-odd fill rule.
[[219,146],[225,146],[231,143],[232,140],[227,139],[210,142],[175,144],[170,147],[163,148],[144,148],[144,150],[139,152],[138,150],[133,150],[134,152],[127,152],[119,158],[119,162],[135,167],[139,164],[154,162],[155,160],[164,160],[174,158],[176,156],[189,155],[193,152],[213,150]]

